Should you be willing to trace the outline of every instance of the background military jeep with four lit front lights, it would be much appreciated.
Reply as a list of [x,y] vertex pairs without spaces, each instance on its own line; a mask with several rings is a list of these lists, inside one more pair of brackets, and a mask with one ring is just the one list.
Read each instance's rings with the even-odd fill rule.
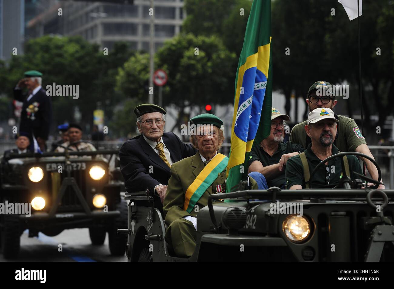
[[65,229],[89,228],[94,245],[102,245],[108,232],[111,254],[123,255],[126,237],[116,229],[127,226],[127,203],[120,196],[124,182],[120,170],[109,166],[117,154],[117,150],[65,150],[5,156],[0,203],[15,209],[25,204],[31,214],[20,210],[0,214],[4,258],[18,256],[20,236],[26,229],[34,237],[38,232],[56,236]]

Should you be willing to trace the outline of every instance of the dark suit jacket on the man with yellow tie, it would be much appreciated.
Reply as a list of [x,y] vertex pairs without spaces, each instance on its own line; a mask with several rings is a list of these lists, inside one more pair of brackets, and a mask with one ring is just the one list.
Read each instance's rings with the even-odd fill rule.
[[[197,151],[192,145],[184,144],[174,133],[164,133],[163,142],[173,163],[192,156]],[[122,145],[119,159],[126,191],[143,191],[149,188],[153,192],[156,185],[168,184],[170,168],[145,141],[142,134]]]

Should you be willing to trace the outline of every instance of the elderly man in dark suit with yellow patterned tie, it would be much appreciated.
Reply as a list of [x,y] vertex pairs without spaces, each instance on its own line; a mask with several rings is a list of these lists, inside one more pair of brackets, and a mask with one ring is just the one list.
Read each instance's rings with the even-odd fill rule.
[[164,132],[166,111],[162,107],[145,103],[134,113],[141,134],[125,142],[119,151],[125,187],[128,191],[149,188],[163,202],[171,165],[194,155],[195,149],[174,133]]

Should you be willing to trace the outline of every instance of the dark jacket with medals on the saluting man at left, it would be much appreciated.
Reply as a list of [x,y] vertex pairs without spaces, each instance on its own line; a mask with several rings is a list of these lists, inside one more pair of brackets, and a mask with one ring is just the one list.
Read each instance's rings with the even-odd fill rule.
[[[43,88],[27,101],[28,96],[22,94],[20,88],[14,88],[14,98],[23,102],[20,114],[19,131],[34,134],[34,136],[48,139],[50,123],[52,122],[52,101]],[[32,105],[33,107],[29,107]],[[34,111],[36,108],[36,111]]]

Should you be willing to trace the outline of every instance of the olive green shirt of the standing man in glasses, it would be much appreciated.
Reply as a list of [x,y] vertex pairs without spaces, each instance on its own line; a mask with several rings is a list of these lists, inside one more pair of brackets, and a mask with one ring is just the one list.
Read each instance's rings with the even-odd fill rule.
[[[338,131],[334,140],[334,145],[339,151],[356,151],[361,144],[366,144],[364,136],[362,136],[357,123],[346,116],[335,115],[338,118]],[[310,144],[310,137],[307,136],[305,125],[307,121],[303,121],[294,125],[290,133],[290,141],[307,147]],[[308,138],[308,140],[307,140]]]

